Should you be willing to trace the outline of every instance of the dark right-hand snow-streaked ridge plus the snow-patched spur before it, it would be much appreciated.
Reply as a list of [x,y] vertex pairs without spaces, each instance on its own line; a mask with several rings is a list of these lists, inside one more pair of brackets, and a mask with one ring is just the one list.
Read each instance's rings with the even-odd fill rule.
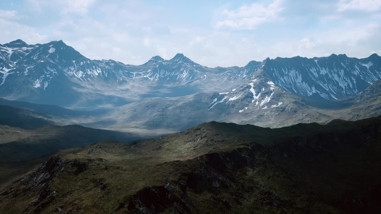
[[[315,102],[330,102],[354,96],[381,79],[381,57],[364,59],[345,54],[329,57],[265,59],[259,68],[236,88],[226,88],[211,101],[210,109],[224,104],[244,112],[285,105],[291,95]],[[231,101],[229,105],[229,101]],[[250,110],[251,109],[251,110]]]

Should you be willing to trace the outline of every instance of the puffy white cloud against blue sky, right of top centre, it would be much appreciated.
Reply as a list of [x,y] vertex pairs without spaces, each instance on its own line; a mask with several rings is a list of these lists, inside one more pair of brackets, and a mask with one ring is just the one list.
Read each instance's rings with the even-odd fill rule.
[[282,1],[274,0],[271,4],[264,6],[253,3],[251,6],[244,5],[237,11],[223,10],[222,13],[229,19],[218,21],[217,28],[229,27],[233,29],[255,29],[259,24],[278,18],[283,10]]

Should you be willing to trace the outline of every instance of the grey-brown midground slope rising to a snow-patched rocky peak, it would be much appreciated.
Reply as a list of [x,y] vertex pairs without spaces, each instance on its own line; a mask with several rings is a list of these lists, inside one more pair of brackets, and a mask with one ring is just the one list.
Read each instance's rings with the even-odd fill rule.
[[336,101],[331,107],[317,106],[267,83],[260,76],[248,82],[221,93],[145,98],[115,107],[106,115],[99,115],[97,120],[86,119],[82,125],[122,131],[139,129],[146,134],[160,135],[212,120],[279,128],[297,123],[328,123],[335,118],[359,120],[381,115],[380,81],[354,98]]

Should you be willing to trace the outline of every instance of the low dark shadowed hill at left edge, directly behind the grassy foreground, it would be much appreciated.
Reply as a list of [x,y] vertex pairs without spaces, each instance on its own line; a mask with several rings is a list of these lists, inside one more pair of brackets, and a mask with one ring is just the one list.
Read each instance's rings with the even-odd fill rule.
[[58,149],[82,147],[96,141],[136,139],[130,133],[78,125],[49,125],[29,130],[0,125],[0,134],[0,161],[31,160]]

